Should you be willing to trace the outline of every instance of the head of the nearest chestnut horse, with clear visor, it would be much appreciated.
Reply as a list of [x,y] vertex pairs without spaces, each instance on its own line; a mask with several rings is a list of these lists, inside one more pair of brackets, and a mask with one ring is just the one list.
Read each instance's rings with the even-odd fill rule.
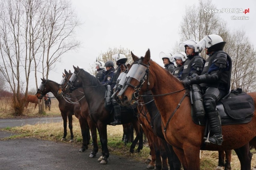
[[[132,52],[133,64],[125,77],[122,89],[117,97],[123,105],[132,105],[134,100],[138,99],[138,94],[151,90],[154,86],[154,79],[149,70],[150,51],[148,50],[145,57],[135,56]],[[118,101],[118,100],[117,100]]]

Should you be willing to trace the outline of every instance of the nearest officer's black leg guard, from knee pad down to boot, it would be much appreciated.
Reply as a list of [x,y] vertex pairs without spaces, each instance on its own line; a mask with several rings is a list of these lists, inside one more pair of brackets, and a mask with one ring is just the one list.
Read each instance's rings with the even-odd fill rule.
[[212,144],[221,145],[223,141],[221,117],[219,116],[218,110],[216,110],[216,102],[218,101],[219,98],[219,90],[214,87],[209,87],[203,96],[203,104],[209,119],[211,132],[214,134],[213,136],[209,137],[209,141]]

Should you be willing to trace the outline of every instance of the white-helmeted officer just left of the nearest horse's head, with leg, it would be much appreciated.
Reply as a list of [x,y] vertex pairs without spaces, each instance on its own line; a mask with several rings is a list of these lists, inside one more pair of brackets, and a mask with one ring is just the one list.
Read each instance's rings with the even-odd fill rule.
[[[114,76],[112,78],[112,85],[111,88],[113,89],[113,87],[116,85],[116,81],[118,76],[120,75],[121,72],[121,65],[126,66],[126,62],[127,62],[127,58],[125,55],[118,53],[112,56],[113,59],[115,59],[116,64],[117,64],[117,68],[115,70]],[[115,125],[120,125],[121,124],[121,108],[120,105],[117,103],[117,101],[114,98],[111,98],[111,103],[114,107],[114,113],[115,113],[115,120],[114,122],[110,123],[111,125],[115,126]]]

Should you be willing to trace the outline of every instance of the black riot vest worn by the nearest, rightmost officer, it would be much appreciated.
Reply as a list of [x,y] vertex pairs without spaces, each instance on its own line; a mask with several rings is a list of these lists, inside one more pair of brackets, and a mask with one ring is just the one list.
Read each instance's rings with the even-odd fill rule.
[[[208,57],[206,59],[202,74],[207,74],[209,71],[209,68],[211,67],[212,63],[216,62],[216,59],[220,56],[220,54],[218,53],[223,53],[225,55],[227,55],[227,62],[229,64],[228,68],[224,68],[224,71],[222,71],[221,73],[221,78],[216,81],[216,82],[212,82],[210,84],[207,83],[201,83],[201,87],[219,87],[219,88],[224,88],[223,90],[229,90],[230,89],[230,79],[231,79],[231,68],[232,68],[232,61],[230,56],[225,53],[224,51],[216,51],[212,56]],[[218,65],[215,64],[216,66]]]

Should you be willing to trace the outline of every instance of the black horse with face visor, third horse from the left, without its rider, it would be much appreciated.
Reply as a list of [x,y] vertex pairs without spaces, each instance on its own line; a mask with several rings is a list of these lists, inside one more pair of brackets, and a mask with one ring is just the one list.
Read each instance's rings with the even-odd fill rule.
[[[74,66],[73,66],[74,67]],[[100,142],[102,146],[102,156],[98,159],[101,164],[106,164],[109,157],[108,146],[107,146],[107,124],[109,125],[114,119],[114,114],[105,108],[105,87],[96,79],[94,76],[89,74],[83,69],[74,67],[75,72],[67,76],[67,80],[63,85],[63,89],[59,89],[59,94],[63,92],[72,92],[75,89],[81,87],[83,88],[85,98],[88,102],[90,108],[91,119],[96,123]],[[72,77],[72,78],[71,78]],[[121,122],[123,124],[133,123],[133,127],[136,130],[136,138],[130,147],[130,152],[133,153],[132,148],[135,147],[137,141],[139,140],[139,146],[137,151],[139,152],[143,147],[142,139],[142,127],[136,116],[133,116],[133,111],[122,111]]]

